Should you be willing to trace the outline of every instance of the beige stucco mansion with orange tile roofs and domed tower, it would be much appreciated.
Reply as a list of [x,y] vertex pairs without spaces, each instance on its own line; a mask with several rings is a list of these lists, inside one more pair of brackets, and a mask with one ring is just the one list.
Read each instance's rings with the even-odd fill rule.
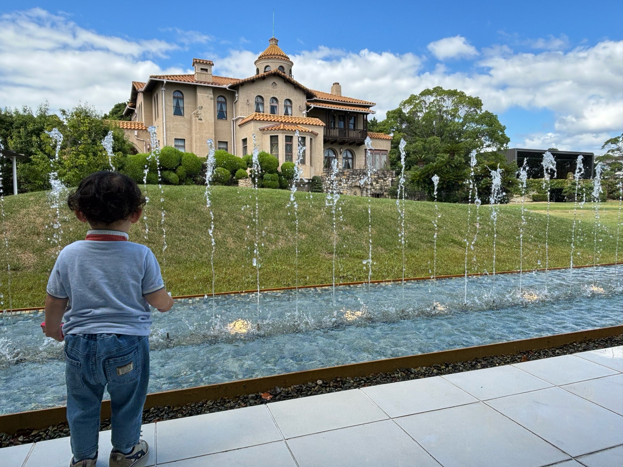
[[368,131],[374,102],[343,96],[340,83],[333,83],[330,92],[305,87],[293,78],[293,62],[277,42],[269,40],[251,77],[213,75],[211,60],[193,59],[192,74],[151,75],[146,82],[132,82],[124,112],[131,121],[118,124],[140,153],[151,149],[150,125],[158,127],[160,146],[197,156],[207,154],[207,139],[235,156],[250,154],[255,134],[260,151],[273,154],[280,165],[296,161],[298,130],[305,146],[305,179],[322,176],[333,159],[343,171],[365,169],[364,140],[369,136],[374,148],[370,164],[387,168],[391,136]]

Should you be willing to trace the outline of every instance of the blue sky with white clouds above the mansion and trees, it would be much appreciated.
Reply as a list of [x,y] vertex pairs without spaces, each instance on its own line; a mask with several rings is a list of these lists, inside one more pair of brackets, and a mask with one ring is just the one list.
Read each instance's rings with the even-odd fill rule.
[[[442,85],[482,98],[512,146],[599,152],[623,131],[623,2],[275,2],[275,36],[295,78],[378,103]],[[598,8],[597,8],[598,6]],[[5,1],[0,105],[52,108],[126,100],[130,80],[186,72],[252,74],[272,35],[258,2]],[[45,73],[29,71],[44,62]],[[37,81],[39,80],[39,81]]]

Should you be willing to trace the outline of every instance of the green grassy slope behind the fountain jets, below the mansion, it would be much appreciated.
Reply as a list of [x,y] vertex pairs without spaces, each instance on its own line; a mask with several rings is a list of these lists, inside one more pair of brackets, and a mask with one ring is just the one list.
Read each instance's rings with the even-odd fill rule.
[[[150,225],[148,240],[143,238],[143,225],[133,226],[130,235],[136,242],[144,242],[161,262],[163,275],[173,295],[209,293],[211,291],[209,214],[204,200],[204,188],[199,186],[164,187],[166,209],[166,238],[168,248],[162,252],[163,239],[159,230],[160,194],[158,187],[150,186],[150,203],[146,215]],[[254,225],[252,207],[255,206],[252,189],[215,187],[212,191],[215,217],[216,291],[255,288],[255,268],[252,266]],[[292,286],[295,284],[294,217],[288,209],[289,192],[259,191],[260,286]],[[331,215],[325,205],[324,194],[297,193],[299,207],[299,284],[331,282],[333,242]],[[368,257],[368,200],[361,197],[340,198],[342,220],[338,219],[336,281],[367,280],[367,268],[362,260]],[[244,209],[243,209],[244,207]],[[396,201],[373,199],[373,279],[401,277],[401,249],[397,237],[398,214]],[[545,266],[546,203],[526,204],[526,232],[524,235],[523,267]],[[571,214],[569,214],[571,209]],[[575,263],[592,263],[594,211],[586,204],[579,212],[576,232],[579,252]],[[602,227],[599,238],[601,254],[597,262],[614,262],[617,203],[600,207]],[[457,274],[464,271],[465,229],[467,205],[439,204],[439,237],[437,238],[437,274]],[[471,206],[472,223],[476,220],[475,206]],[[6,224],[9,240],[9,262],[12,270],[12,305],[14,308],[40,306],[45,294],[45,283],[54,265],[54,249],[47,241],[46,222],[50,209],[44,193],[7,197]],[[289,214],[288,214],[289,213]],[[470,271],[492,271],[493,228],[491,208],[481,206],[480,232],[475,250],[470,251]],[[340,214],[340,213],[338,213]],[[64,208],[62,245],[84,237],[86,226]],[[433,263],[434,204],[406,203],[406,276],[426,276]],[[500,207],[497,227],[496,270],[519,268],[520,207]],[[569,264],[573,205],[552,204],[549,224],[549,266]],[[249,226],[249,227],[247,227]],[[472,237],[473,237],[472,224]],[[475,260],[474,260],[475,253]],[[541,265],[538,261],[541,260]],[[0,291],[5,293],[6,267],[0,273]],[[5,298],[4,308],[9,304]]]

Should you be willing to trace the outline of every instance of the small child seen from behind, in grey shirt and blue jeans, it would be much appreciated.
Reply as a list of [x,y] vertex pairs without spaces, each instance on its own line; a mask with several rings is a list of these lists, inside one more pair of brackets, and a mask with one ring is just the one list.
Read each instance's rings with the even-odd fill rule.
[[[150,376],[149,305],[164,312],[173,299],[156,257],[128,242],[145,199],[128,176],[97,172],[67,200],[92,230],[59,254],[47,284],[45,335],[65,341],[70,467],[97,462],[100,406],[108,386],[112,410],[110,467],[135,466],[149,446],[140,440]],[[61,321],[64,325],[61,328]]]

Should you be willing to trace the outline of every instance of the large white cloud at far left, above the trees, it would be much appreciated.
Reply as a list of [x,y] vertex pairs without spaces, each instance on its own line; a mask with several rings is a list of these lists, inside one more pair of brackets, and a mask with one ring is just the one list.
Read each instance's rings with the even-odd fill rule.
[[163,70],[152,59],[178,49],[163,40],[97,34],[42,9],[0,16],[0,102],[70,108],[88,101],[98,110],[130,97],[130,82]]

